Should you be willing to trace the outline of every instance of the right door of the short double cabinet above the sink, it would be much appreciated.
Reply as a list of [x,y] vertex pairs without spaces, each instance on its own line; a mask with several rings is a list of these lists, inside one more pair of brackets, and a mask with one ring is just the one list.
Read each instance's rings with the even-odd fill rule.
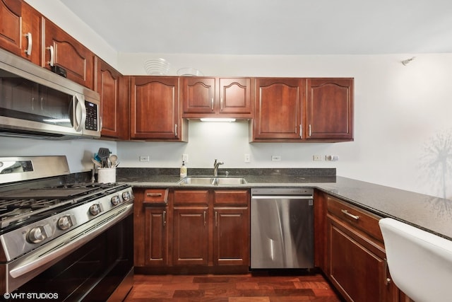
[[218,79],[220,91],[220,115],[251,117],[251,79]]

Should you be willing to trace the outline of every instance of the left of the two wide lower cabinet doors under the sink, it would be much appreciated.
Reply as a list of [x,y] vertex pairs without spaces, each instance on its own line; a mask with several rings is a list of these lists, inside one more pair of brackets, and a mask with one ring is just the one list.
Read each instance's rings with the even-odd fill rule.
[[173,264],[208,265],[208,208],[173,211]]

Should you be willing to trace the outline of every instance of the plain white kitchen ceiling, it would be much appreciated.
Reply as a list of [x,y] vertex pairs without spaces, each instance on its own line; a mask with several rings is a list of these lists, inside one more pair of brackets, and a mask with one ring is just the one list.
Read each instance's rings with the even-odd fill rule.
[[451,0],[60,0],[118,52],[452,52]]

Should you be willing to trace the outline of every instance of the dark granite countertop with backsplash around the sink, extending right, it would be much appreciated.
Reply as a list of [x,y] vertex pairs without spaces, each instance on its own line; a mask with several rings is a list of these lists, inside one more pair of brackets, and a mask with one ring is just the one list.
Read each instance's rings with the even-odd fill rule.
[[[189,176],[211,175],[211,170],[190,169]],[[196,187],[179,185],[178,173],[178,169],[121,168],[117,181],[129,182],[134,187]],[[330,168],[230,169],[229,177],[238,176],[248,183],[222,187],[315,187],[379,216],[398,219],[452,240],[452,201],[449,199],[335,176],[335,169]]]

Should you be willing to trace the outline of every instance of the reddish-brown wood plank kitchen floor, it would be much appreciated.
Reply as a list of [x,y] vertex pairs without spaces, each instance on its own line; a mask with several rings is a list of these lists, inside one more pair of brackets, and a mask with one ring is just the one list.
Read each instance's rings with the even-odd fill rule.
[[282,302],[340,299],[321,274],[136,274],[127,301]]

